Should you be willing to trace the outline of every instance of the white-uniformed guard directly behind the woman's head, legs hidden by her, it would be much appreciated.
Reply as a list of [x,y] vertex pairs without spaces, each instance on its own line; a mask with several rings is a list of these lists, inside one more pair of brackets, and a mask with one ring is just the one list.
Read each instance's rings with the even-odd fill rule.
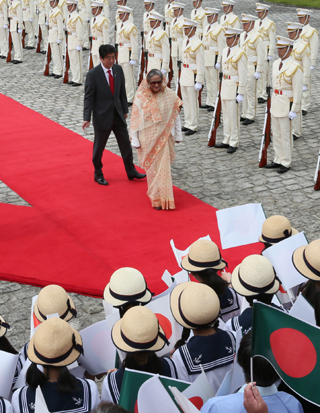
[[170,46],[168,35],[161,28],[162,21],[164,21],[164,16],[154,10],[150,12],[148,72],[151,69],[158,69],[163,74],[167,74],[169,72]]

